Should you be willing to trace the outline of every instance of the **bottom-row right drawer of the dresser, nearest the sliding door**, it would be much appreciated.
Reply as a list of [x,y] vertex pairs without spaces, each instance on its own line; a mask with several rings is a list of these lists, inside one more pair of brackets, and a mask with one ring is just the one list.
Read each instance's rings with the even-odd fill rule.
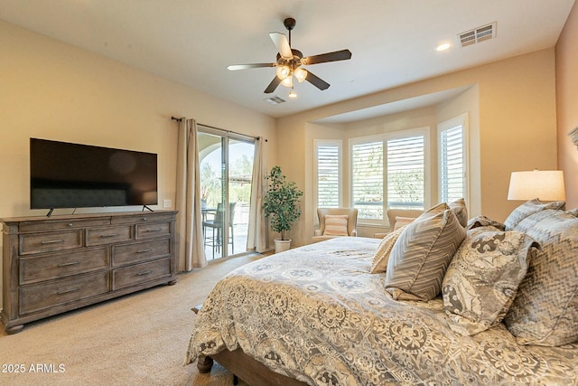
[[112,289],[131,287],[157,278],[171,276],[171,259],[149,261],[124,268],[113,269]]

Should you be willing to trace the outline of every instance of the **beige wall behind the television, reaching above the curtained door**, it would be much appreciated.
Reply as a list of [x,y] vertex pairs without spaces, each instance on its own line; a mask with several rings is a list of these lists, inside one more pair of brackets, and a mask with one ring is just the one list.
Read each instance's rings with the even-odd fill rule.
[[[274,118],[4,22],[0,47],[0,217],[48,212],[29,209],[30,137],[156,153],[159,202],[172,200],[172,209],[177,140],[172,116],[265,137],[266,163],[276,163]],[[135,209],[140,210],[114,210]]]

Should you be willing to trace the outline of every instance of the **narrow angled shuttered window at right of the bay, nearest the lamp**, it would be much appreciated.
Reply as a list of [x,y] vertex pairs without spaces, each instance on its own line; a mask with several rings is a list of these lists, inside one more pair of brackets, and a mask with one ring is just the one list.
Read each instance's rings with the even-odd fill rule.
[[440,199],[443,202],[467,199],[466,118],[462,115],[439,125]]

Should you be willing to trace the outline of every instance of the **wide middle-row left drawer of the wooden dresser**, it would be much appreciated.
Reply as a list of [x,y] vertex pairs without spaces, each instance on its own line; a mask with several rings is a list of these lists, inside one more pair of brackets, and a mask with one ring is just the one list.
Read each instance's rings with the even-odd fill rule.
[[53,278],[110,267],[108,248],[81,249],[74,253],[51,254],[19,259],[19,284],[32,284]]

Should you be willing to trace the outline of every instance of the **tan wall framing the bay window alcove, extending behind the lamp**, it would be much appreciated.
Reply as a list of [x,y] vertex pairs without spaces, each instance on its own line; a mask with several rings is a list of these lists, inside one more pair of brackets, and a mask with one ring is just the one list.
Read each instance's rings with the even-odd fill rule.
[[[479,154],[479,160],[474,160],[474,164],[478,163],[474,173],[478,174],[479,182],[471,186],[471,195],[478,195],[480,203],[479,208],[474,209],[504,221],[520,203],[508,202],[506,198],[510,173],[553,169],[557,165],[553,48],[280,118],[277,121],[279,142],[290,143],[292,151],[289,155],[279,148],[279,164],[297,185],[312,186],[312,181],[307,181],[312,178],[309,173],[312,163],[308,163],[311,155],[305,153],[312,145],[305,141],[314,135],[304,134],[308,122],[471,85],[475,87],[470,89],[470,94],[437,106],[436,115],[441,122],[454,113],[470,114],[471,128],[478,136],[471,155]],[[475,99],[477,106],[472,105]],[[468,111],[461,111],[464,108]],[[310,242],[314,226],[315,208],[306,197],[302,210],[304,215],[295,226],[294,234],[290,234],[296,245]]]

